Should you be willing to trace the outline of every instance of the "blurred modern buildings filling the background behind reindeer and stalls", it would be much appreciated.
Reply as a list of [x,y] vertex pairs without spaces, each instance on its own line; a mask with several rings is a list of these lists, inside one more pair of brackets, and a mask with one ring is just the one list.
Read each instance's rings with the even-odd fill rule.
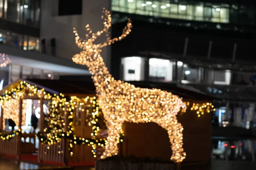
[[[102,51],[116,79],[176,84],[212,96],[212,123],[249,128],[255,122],[256,3],[253,0],[0,0],[0,69],[4,85],[18,78],[87,79],[70,59],[85,36],[103,29],[111,10],[112,36],[128,17],[132,34]],[[104,41],[105,37],[99,38]]]

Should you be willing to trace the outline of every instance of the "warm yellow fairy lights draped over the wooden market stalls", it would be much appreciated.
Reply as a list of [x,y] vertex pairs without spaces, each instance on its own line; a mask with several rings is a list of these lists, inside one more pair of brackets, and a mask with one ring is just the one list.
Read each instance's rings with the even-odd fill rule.
[[[5,119],[14,119],[15,123],[18,124],[18,109],[19,109],[19,99],[22,99],[24,95],[33,96],[38,95],[44,97],[44,99],[49,100],[49,113],[48,117],[45,118],[47,125],[44,127],[44,133],[38,133],[38,139],[42,144],[47,144],[47,148],[50,148],[50,145],[56,144],[57,142],[61,142],[62,139],[69,139],[69,152],[70,156],[73,156],[73,147],[75,144],[84,144],[92,147],[93,157],[96,158],[96,150],[97,147],[105,147],[106,139],[99,137],[99,117],[102,114],[102,111],[99,106],[99,100],[96,99],[95,96],[86,98],[78,98],[76,96],[71,96],[69,99],[65,98],[63,94],[48,94],[44,91],[44,89],[38,89],[36,86],[32,86],[25,81],[21,81],[17,87],[10,88],[8,91],[6,90],[3,96],[0,96],[0,102],[3,106],[3,117]],[[44,95],[44,96],[43,96]],[[185,103],[187,107],[189,107],[189,102]],[[201,104],[200,106],[205,105],[211,106],[211,103]],[[82,107],[79,107],[82,106]],[[195,111],[200,110],[199,104],[193,104],[191,108]],[[91,138],[85,139],[78,137],[73,134],[75,128],[73,126],[73,111],[79,107],[79,110],[84,113],[90,115],[89,126],[92,127]],[[23,111],[22,111],[22,122],[25,122],[26,119],[26,100],[23,99]],[[207,107],[208,108],[208,107]],[[192,109],[191,109],[192,110]],[[200,110],[201,111],[201,110]],[[207,113],[208,110],[206,111]],[[65,131],[65,113],[68,114],[68,123],[67,130]],[[16,119],[17,118],[17,119]],[[105,123],[105,120],[103,120]],[[0,133],[0,139],[2,140],[10,140],[14,136],[21,135],[22,132],[20,129],[14,131],[12,134],[4,134]],[[117,143],[123,141],[124,133],[121,132],[119,135],[119,141]],[[64,153],[62,150],[59,153]]]

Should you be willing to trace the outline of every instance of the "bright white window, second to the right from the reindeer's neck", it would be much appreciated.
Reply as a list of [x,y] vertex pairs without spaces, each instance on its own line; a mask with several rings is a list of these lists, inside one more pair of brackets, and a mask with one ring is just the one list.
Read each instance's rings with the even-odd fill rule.
[[172,81],[173,63],[167,59],[149,59],[149,80]]

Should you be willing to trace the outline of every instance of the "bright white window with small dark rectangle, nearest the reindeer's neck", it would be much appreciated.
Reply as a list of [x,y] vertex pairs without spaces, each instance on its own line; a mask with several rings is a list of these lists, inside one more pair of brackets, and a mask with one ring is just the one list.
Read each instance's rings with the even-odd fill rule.
[[126,81],[144,80],[145,59],[142,57],[122,58],[123,79]]

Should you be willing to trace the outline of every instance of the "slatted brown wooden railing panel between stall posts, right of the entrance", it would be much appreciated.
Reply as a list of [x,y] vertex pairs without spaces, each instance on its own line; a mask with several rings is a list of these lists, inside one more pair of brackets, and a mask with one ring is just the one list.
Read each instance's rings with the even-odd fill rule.
[[38,160],[40,162],[54,162],[59,164],[65,163],[65,140],[61,142],[47,145],[39,144],[38,147]]

